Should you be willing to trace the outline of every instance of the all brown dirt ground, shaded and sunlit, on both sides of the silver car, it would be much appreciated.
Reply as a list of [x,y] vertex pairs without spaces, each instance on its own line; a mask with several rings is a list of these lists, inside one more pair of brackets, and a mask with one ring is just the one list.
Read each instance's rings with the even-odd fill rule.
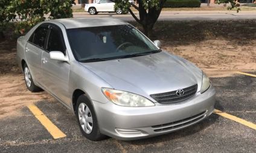
[[[256,70],[253,20],[158,22],[155,27],[162,49],[195,63],[210,77]],[[16,40],[0,41],[0,119],[18,114],[31,102],[53,101],[46,92],[28,92],[16,66]]]

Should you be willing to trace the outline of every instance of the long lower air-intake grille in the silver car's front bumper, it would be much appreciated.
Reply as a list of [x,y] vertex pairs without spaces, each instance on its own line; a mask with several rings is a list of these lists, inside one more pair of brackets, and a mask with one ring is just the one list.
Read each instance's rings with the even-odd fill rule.
[[186,119],[178,120],[171,123],[165,123],[161,125],[155,125],[155,126],[152,126],[152,128],[155,132],[179,130],[181,128],[185,128],[186,126],[192,125],[204,119],[206,116],[206,113],[207,113],[207,110],[203,111],[202,113],[196,114],[194,116],[188,117]]

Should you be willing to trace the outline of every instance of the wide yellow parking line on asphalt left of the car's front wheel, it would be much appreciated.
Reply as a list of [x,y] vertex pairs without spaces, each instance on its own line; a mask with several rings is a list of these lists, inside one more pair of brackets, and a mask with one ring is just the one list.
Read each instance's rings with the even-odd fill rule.
[[29,105],[28,108],[39,120],[39,122],[45,126],[46,130],[51,134],[51,136],[53,136],[54,139],[66,137],[66,134],[60,131],[59,128],[57,128],[57,126],[54,125],[53,122],[51,122],[51,120],[48,119],[48,117],[46,117],[45,114],[39,110],[39,108],[37,108],[35,105]]

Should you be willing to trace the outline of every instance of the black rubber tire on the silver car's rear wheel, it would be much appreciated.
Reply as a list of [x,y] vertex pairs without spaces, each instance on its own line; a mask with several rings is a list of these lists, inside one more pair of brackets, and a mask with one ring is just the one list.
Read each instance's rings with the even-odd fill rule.
[[[30,78],[26,78],[26,71],[28,70],[28,73],[30,75]],[[24,66],[23,66],[23,72],[24,72],[24,80],[25,80],[25,84],[27,86],[27,89],[30,90],[30,92],[41,92],[42,89],[40,89],[40,87],[37,87],[35,84],[34,84],[34,81],[33,81],[33,78],[32,78],[32,75],[30,74],[30,69],[28,68],[27,64],[25,63]],[[30,84],[27,83],[26,80],[30,80]]]

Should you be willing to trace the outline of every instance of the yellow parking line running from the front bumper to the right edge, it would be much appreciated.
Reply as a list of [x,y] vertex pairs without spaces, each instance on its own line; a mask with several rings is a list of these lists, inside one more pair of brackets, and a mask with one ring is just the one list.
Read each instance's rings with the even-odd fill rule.
[[222,112],[220,110],[216,110],[215,109],[214,113],[216,113],[216,114],[218,114],[220,116],[226,117],[227,119],[234,120],[235,122],[238,122],[238,123],[240,123],[242,125],[248,126],[249,128],[252,128],[252,129],[256,130],[256,125],[254,123],[248,122],[248,121],[246,121],[244,119],[240,119],[240,118],[238,118],[236,116],[232,116],[231,114],[224,113],[224,112]]

